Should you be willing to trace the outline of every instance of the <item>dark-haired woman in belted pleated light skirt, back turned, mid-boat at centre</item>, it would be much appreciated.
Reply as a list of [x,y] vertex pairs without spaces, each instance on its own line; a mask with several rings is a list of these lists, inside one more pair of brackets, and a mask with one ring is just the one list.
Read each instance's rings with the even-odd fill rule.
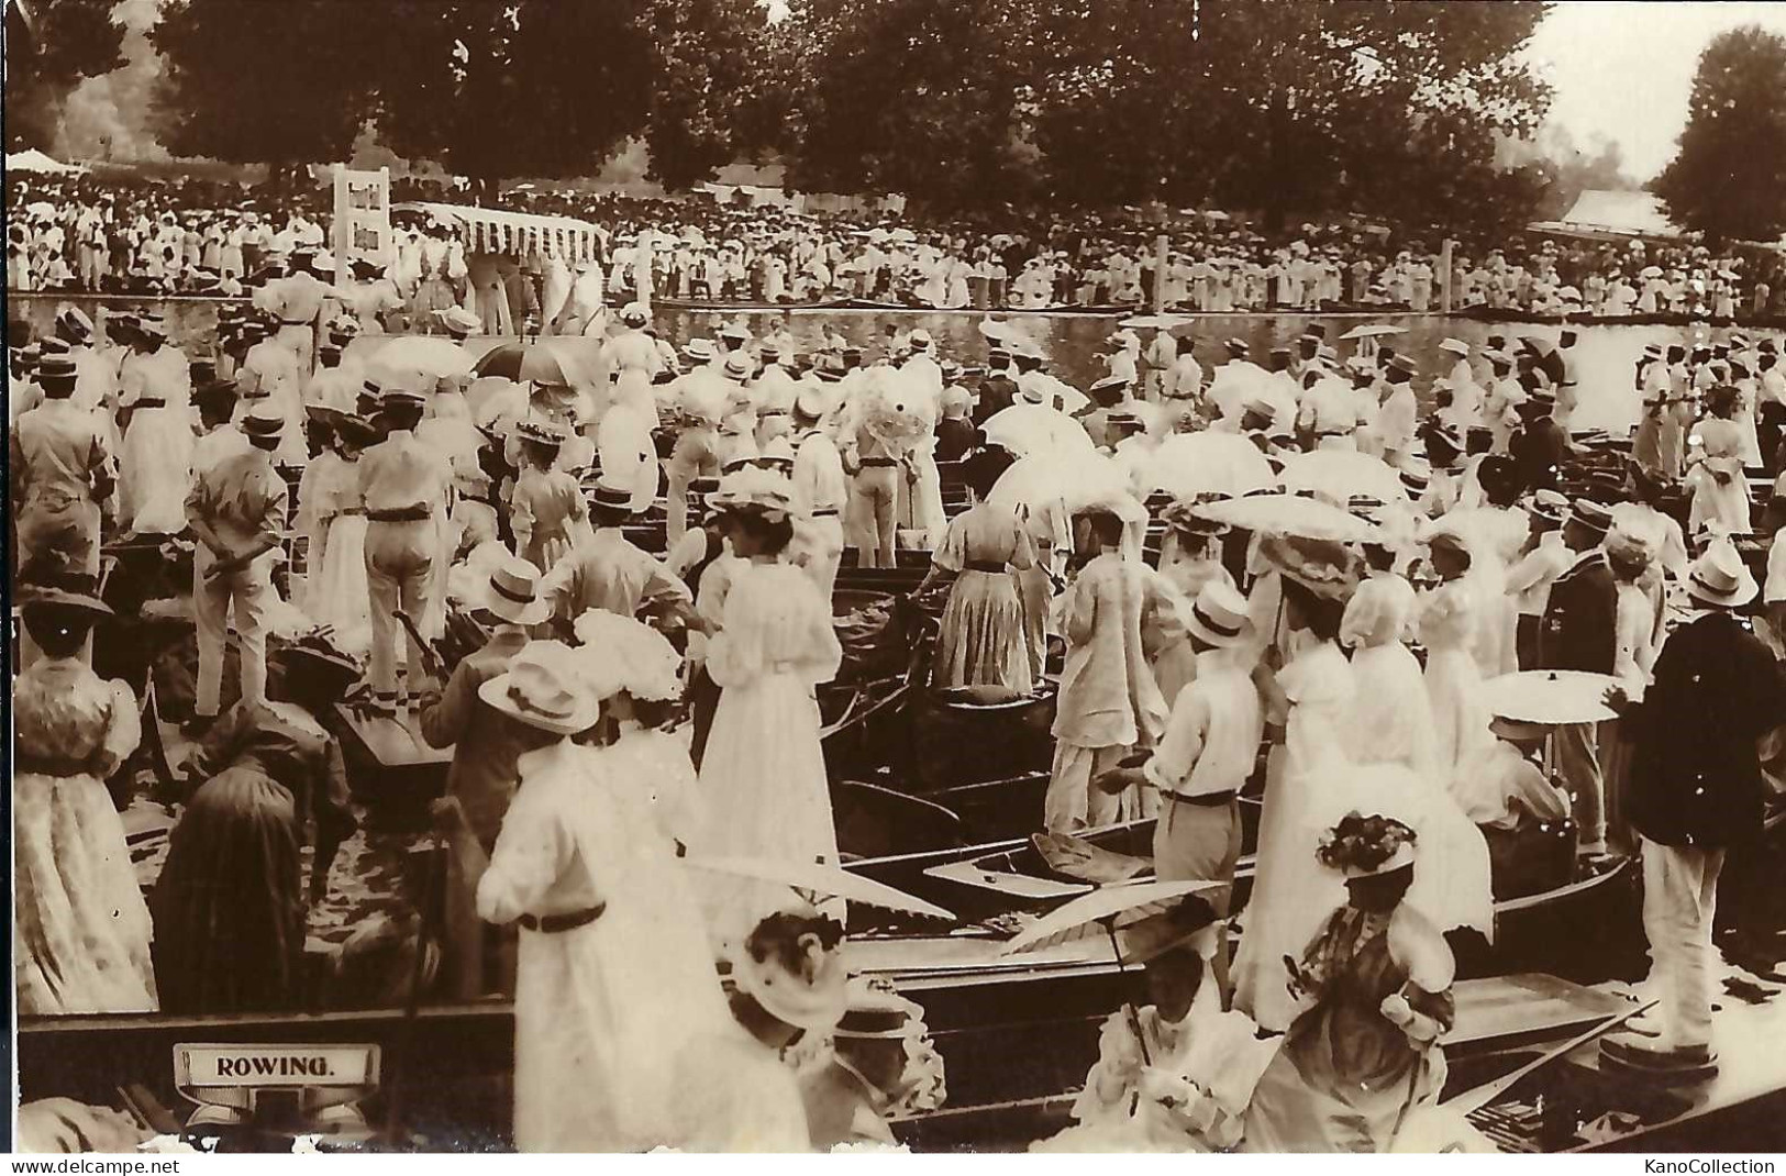
[[982,449],[966,459],[963,479],[973,504],[948,520],[920,588],[952,579],[931,672],[938,686],[1000,686],[1022,695],[1034,685],[1013,572],[1032,568],[1036,549],[1014,509],[986,500],[1009,466],[1011,456],[1002,449]]

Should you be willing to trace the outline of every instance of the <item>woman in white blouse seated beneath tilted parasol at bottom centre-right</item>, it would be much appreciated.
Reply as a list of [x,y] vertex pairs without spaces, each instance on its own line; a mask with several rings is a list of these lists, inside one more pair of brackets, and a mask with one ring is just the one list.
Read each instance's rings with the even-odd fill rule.
[[1152,1004],[1104,1022],[1098,1062],[1073,1103],[1077,1126],[1032,1151],[1223,1151],[1239,1142],[1254,1083],[1277,1054],[1245,1013],[1206,985],[1214,908],[1188,895],[1122,931],[1122,962],[1145,969]]

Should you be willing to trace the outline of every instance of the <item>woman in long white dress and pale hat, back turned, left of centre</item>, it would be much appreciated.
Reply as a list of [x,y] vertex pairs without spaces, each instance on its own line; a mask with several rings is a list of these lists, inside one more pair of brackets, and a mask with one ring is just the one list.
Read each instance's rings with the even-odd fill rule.
[[[713,508],[738,563],[720,633],[707,643],[720,702],[700,761],[705,842],[718,856],[836,861],[813,690],[838,674],[843,647],[830,602],[802,568],[782,561],[793,540],[793,490],[775,474],[747,468],[722,479]],[[761,913],[761,895],[748,885],[727,885],[714,899],[713,931],[722,938],[743,931],[739,917]]]

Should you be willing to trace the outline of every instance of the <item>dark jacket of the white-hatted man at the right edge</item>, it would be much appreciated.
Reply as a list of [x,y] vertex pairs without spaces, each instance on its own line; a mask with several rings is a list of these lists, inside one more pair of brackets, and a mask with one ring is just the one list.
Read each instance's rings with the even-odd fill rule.
[[1756,742],[1786,718],[1786,672],[1748,624],[1707,613],[1675,629],[1643,702],[1625,711],[1632,742],[1631,820],[1663,845],[1722,849],[1761,827]]

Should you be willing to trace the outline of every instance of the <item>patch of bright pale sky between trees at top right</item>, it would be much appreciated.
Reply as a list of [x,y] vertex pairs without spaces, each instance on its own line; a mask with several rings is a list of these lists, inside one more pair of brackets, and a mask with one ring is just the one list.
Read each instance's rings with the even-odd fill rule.
[[1556,86],[1550,125],[1582,148],[1618,141],[1625,172],[1648,181],[1673,159],[1700,50],[1748,23],[1786,34],[1786,4],[1565,0],[1527,54]]

